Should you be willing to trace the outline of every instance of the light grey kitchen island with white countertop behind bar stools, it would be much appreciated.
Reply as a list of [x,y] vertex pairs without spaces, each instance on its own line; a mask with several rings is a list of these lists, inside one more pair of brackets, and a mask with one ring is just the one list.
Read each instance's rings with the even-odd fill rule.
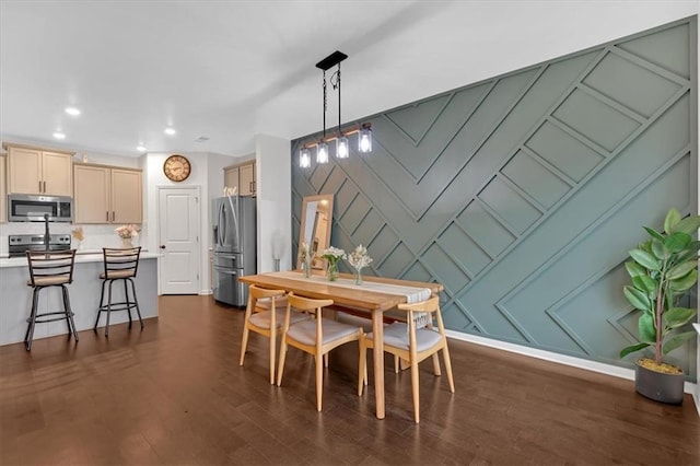
[[[141,252],[139,270],[135,279],[139,308],[143,319],[158,317],[158,258],[160,254]],[[80,330],[92,329],[97,317],[100,305],[100,291],[103,271],[102,252],[95,254],[75,255],[73,282],[68,286],[70,304],[73,311],[75,327]],[[30,270],[26,257],[0,258],[0,345],[10,345],[24,341],[26,333],[26,318],[32,306],[32,288],[27,286]],[[117,283],[118,284],[118,283]],[[113,301],[124,301],[124,287],[113,287]],[[45,290],[39,295],[39,312],[43,310],[61,308],[61,293],[59,288]],[[132,318],[137,325],[131,331],[140,331],[138,316],[132,312]],[[105,315],[103,313],[100,327],[104,327]],[[109,326],[128,322],[126,312],[113,312],[109,317]],[[144,322],[148,330],[148,322]],[[112,329],[110,334],[119,330]],[[34,330],[34,340],[55,335],[68,335],[66,321],[57,321],[37,324]],[[79,343],[80,345],[80,343]]]

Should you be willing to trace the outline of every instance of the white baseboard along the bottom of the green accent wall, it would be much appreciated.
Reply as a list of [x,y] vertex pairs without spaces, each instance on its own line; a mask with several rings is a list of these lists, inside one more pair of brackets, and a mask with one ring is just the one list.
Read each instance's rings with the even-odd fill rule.
[[[634,371],[632,369],[619,368],[617,365],[605,364],[603,362],[588,361],[587,359],[574,358],[572,356],[559,354],[551,351],[528,348],[521,345],[493,340],[491,338],[479,337],[476,335],[462,334],[454,330],[445,330],[445,334],[450,338],[454,338],[455,340],[467,341],[489,348],[495,348],[503,351],[528,356],[530,358],[542,359],[545,361],[570,365],[572,368],[585,369],[586,371],[612,375],[616,377],[626,378],[628,381],[634,380]],[[684,392],[692,395],[692,398],[696,403],[696,409],[698,409],[698,416],[700,416],[700,399],[698,398],[697,384],[686,382],[684,385]]]

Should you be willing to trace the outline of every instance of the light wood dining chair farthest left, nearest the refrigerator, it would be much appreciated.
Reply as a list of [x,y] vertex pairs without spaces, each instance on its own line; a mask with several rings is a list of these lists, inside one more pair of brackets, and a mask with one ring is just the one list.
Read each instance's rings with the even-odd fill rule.
[[[282,324],[284,323],[284,312],[287,310],[287,307],[280,307],[279,302],[282,301],[287,304],[285,293],[284,290],[266,290],[254,284],[248,288],[248,303],[245,310],[241,361],[238,364],[243,365],[250,331],[268,337],[270,339],[270,384],[275,384],[277,337],[282,334]],[[271,312],[271,310],[275,310],[275,312]],[[307,318],[308,316],[300,314],[294,316],[293,322]]]

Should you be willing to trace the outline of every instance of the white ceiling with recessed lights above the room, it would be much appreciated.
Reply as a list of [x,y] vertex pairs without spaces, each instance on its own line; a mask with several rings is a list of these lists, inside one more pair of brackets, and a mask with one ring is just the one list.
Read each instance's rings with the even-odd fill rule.
[[349,56],[342,120],[352,121],[697,14],[698,3],[0,0],[0,137],[241,156],[257,133],[322,130],[315,63],[334,50]]

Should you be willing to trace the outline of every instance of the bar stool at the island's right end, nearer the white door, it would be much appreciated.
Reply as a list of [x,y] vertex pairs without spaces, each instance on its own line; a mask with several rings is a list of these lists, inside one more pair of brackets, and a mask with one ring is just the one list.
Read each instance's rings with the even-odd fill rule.
[[[139,268],[139,256],[141,255],[141,246],[129,247],[126,249],[116,249],[110,247],[102,248],[104,271],[100,273],[102,281],[102,292],[100,293],[100,307],[97,308],[97,318],[95,319],[94,331],[97,331],[97,324],[100,323],[100,315],[102,312],[107,313],[107,319],[105,324],[105,337],[109,336],[109,314],[113,311],[127,311],[129,313],[129,328],[131,328],[131,310],[135,308],[143,328],[143,319],[141,318],[141,311],[139,310],[139,301],[136,298],[136,286],[133,279]],[[112,286],[115,281],[121,280],[124,282],[124,301],[112,301]],[[131,298],[129,298],[129,287],[127,282],[131,284]],[[107,287],[109,284],[109,287]],[[105,289],[107,289],[107,302],[105,302]]]

